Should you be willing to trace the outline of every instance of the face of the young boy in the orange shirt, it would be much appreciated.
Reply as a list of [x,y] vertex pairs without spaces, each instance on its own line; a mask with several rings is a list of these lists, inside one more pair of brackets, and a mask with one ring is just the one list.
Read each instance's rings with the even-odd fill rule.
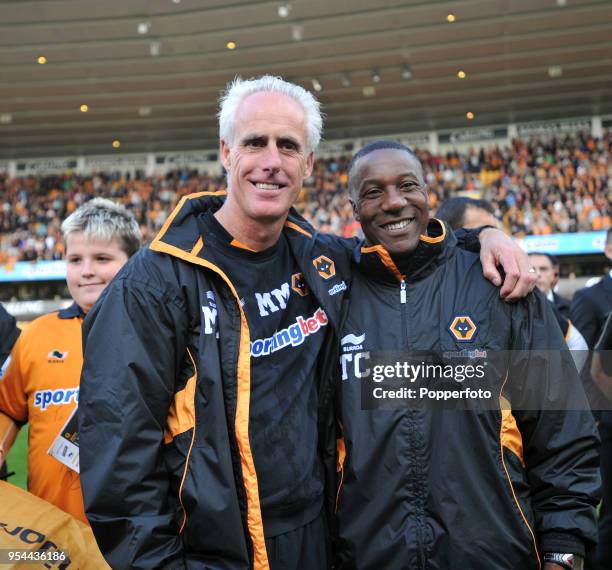
[[85,313],[128,260],[117,240],[88,239],[82,233],[66,239],[66,283],[70,295]]

